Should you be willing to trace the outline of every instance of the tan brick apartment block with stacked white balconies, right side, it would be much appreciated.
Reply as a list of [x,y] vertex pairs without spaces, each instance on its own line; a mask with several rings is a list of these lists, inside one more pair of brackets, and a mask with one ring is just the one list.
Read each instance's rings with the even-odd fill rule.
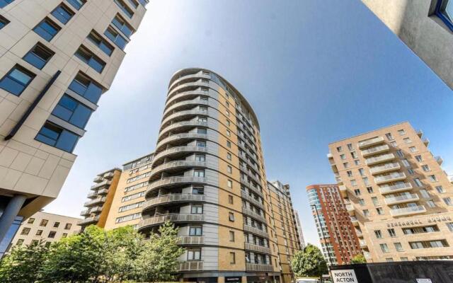
[[369,262],[453,258],[453,185],[408,122],[329,144]]

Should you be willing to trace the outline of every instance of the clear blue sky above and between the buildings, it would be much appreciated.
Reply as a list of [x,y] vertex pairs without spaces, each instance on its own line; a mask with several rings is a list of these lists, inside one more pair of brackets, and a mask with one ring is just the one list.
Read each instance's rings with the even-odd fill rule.
[[154,149],[171,75],[222,74],[260,121],[270,180],[292,188],[306,241],[306,185],[332,183],[328,144],[408,120],[453,173],[453,93],[359,0],[151,0],[57,200],[78,216],[93,177]]

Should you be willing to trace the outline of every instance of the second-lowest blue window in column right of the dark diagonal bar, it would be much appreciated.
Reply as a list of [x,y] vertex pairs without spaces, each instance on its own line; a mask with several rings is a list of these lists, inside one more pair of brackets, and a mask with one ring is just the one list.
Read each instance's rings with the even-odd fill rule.
[[55,106],[52,115],[55,115],[76,127],[84,129],[92,112],[93,110],[65,94],[59,100],[57,106]]

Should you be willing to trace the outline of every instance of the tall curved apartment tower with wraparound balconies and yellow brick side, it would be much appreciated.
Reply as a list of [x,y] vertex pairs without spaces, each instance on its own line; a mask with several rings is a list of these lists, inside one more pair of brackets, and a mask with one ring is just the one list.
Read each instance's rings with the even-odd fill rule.
[[280,280],[258,120],[241,93],[206,69],[183,69],[166,107],[139,231],[180,229],[184,281]]

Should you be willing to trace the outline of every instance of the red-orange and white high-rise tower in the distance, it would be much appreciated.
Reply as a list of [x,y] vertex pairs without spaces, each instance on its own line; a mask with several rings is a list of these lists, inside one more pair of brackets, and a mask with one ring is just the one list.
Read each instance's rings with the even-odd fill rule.
[[350,263],[362,250],[338,185],[309,185],[306,192],[326,262]]

